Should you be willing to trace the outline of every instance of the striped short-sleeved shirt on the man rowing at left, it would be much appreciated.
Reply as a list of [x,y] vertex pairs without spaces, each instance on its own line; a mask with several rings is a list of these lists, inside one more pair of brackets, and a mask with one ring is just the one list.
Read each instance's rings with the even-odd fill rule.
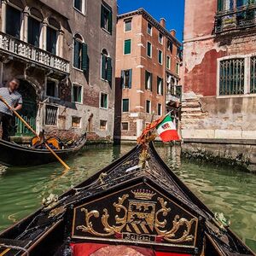
[[[17,105],[22,104],[22,96],[18,91],[10,92],[8,88],[0,88],[0,96],[9,103],[9,106],[16,108]],[[13,115],[13,112],[0,100],[0,113]]]

